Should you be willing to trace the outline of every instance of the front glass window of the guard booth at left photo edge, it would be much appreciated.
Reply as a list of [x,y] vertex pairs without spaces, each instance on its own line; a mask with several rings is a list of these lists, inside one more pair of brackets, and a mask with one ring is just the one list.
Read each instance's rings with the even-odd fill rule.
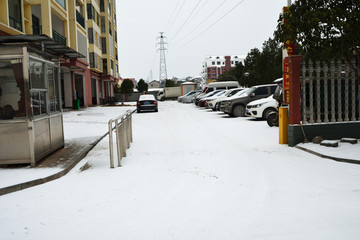
[[25,115],[22,60],[0,59],[0,119],[13,119]]

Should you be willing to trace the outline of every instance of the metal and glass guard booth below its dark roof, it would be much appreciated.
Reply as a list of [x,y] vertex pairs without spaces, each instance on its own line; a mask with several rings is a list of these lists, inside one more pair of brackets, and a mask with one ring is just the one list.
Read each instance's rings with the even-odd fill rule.
[[36,162],[64,146],[59,57],[0,46],[0,164]]

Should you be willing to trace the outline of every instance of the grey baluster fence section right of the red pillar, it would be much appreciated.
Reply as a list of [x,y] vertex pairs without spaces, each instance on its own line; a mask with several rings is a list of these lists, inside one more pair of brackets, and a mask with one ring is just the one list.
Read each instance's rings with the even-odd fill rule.
[[303,124],[360,120],[360,82],[347,62],[302,61],[301,74]]

